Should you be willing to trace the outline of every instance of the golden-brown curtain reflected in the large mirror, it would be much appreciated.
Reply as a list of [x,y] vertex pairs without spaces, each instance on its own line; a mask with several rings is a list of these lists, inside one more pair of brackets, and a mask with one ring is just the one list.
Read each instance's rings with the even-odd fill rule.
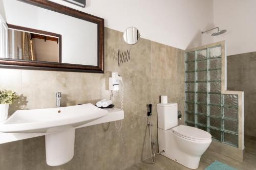
[[33,40],[30,33],[22,33],[22,59],[23,60],[36,60],[33,52]]

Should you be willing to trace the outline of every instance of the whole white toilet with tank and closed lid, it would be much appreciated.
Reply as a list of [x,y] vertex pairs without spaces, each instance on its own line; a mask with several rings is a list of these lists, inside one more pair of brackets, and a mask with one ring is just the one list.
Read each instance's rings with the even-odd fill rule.
[[188,168],[197,169],[211,135],[201,129],[179,125],[178,104],[157,105],[159,152]]

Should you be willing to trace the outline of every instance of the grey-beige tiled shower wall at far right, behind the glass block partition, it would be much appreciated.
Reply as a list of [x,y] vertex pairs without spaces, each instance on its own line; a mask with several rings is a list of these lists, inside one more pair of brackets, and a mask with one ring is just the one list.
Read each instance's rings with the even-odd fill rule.
[[256,52],[227,57],[228,90],[244,91],[244,133],[256,137]]

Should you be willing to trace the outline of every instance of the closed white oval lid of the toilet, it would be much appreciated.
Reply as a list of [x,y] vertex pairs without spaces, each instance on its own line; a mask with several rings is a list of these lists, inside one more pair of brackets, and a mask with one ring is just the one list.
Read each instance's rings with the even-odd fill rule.
[[181,136],[191,139],[206,140],[211,138],[211,135],[208,132],[190,126],[180,125],[172,130]]

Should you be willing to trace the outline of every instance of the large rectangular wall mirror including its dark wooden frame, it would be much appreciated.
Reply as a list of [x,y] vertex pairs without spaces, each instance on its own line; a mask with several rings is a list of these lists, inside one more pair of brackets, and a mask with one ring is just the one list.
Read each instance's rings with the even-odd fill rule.
[[1,1],[2,67],[104,71],[104,19],[46,0]]

